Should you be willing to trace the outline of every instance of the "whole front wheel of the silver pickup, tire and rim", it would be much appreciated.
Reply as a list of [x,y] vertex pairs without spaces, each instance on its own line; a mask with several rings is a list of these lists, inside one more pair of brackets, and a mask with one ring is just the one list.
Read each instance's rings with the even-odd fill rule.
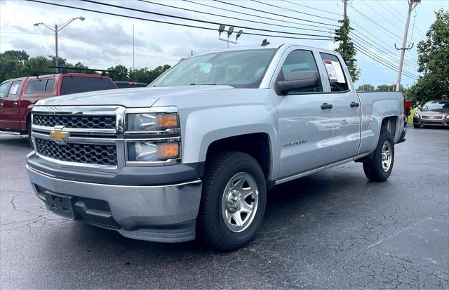
[[208,162],[197,222],[198,237],[217,249],[237,249],[262,223],[267,187],[257,161],[242,152],[223,152]]

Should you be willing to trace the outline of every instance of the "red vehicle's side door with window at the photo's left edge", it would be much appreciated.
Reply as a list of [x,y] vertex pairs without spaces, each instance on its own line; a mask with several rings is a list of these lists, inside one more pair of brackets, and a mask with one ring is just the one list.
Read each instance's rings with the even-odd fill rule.
[[22,80],[12,81],[11,86],[8,89],[8,94],[3,99],[3,106],[1,107],[0,119],[4,125],[4,128],[10,130],[20,130],[20,118],[19,118],[19,102],[20,92],[22,91]]

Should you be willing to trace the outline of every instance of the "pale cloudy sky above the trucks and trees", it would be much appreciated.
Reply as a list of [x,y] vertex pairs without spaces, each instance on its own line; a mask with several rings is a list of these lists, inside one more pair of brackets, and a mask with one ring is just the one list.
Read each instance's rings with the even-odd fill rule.
[[[80,11],[31,1],[0,1],[1,52],[15,49],[25,50],[31,56],[54,55],[54,33],[43,25],[34,26],[34,23],[62,25],[70,18],[83,16],[86,20],[75,20],[59,32],[58,53],[68,62],[83,62],[88,67],[97,69],[106,69],[118,64],[133,67],[133,27],[134,67],[135,69],[142,67],[152,69],[164,64],[174,65],[192,52],[199,54],[225,48],[226,42],[218,39],[217,24],[219,23],[227,27],[232,25],[235,31],[243,30],[238,44],[229,44],[231,47],[260,44],[263,39],[267,39],[271,43],[288,42],[333,50],[337,44],[321,36],[333,37],[334,29],[337,29],[339,25],[337,20],[342,19],[343,14],[342,0],[95,0],[100,4],[79,0],[39,1],[143,18],[143,20],[124,18],[118,15]],[[207,23],[130,11],[123,7],[203,20]],[[440,8],[449,10],[449,0],[422,0],[412,12],[408,46],[414,45],[406,51],[401,81],[404,86],[413,84],[419,75],[417,43],[426,38],[425,34],[435,20],[434,11]],[[398,47],[402,45],[407,9],[407,0],[348,0],[347,14],[354,28],[351,37],[361,51],[370,55],[367,56],[361,52],[356,55],[357,65],[361,69],[356,86],[362,84],[377,86],[396,82],[397,72],[376,62],[373,58],[398,67],[400,51],[396,51],[394,44]],[[175,22],[209,29],[148,20]],[[255,29],[272,30],[272,32]],[[250,35],[246,32],[268,36]],[[302,34],[319,35],[319,37]],[[283,38],[286,36],[318,38],[319,40]],[[231,39],[235,40],[235,33]]]

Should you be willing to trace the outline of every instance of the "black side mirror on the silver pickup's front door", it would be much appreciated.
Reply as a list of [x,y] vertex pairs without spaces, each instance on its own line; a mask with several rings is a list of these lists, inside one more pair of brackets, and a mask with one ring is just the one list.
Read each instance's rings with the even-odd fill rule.
[[281,95],[285,95],[289,91],[294,91],[308,86],[316,86],[320,81],[318,72],[299,71],[290,72],[284,81],[278,81],[278,91]]

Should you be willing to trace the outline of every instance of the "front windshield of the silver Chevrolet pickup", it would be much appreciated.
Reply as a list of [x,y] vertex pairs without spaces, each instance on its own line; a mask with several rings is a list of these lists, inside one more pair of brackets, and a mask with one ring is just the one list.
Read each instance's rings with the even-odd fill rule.
[[276,49],[225,51],[187,58],[152,86],[229,85],[258,88]]

